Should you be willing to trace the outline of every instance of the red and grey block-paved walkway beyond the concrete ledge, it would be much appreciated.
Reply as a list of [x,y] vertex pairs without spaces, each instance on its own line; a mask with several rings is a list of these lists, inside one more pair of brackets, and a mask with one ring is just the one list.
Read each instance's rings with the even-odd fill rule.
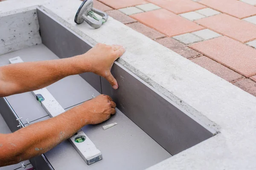
[[94,7],[256,96],[256,0],[95,0]]

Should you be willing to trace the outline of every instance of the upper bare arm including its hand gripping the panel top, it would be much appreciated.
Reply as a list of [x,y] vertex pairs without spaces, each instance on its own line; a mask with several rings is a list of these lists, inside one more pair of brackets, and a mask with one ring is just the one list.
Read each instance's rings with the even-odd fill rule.
[[44,88],[74,74],[93,72],[118,88],[110,70],[125,49],[120,45],[97,44],[87,53],[65,59],[24,62],[0,67],[0,97]]

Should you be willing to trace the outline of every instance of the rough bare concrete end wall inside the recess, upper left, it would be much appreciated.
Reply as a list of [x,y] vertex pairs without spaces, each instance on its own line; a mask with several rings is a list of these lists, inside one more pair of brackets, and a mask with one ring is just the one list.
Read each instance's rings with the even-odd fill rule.
[[1,17],[1,23],[8,27],[0,27],[0,54],[41,43],[35,9]]

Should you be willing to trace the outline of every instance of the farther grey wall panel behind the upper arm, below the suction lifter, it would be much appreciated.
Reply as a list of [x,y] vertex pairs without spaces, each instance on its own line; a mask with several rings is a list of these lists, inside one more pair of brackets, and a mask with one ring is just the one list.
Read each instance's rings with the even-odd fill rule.
[[[82,40],[70,28],[52,19],[41,9],[38,9],[38,21],[42,43],[58,57],[73,57],[84,54],[92,48],[89,42]],[[100,77],[98,75],[84,73],[81,74],[81,77],[101,93]]]

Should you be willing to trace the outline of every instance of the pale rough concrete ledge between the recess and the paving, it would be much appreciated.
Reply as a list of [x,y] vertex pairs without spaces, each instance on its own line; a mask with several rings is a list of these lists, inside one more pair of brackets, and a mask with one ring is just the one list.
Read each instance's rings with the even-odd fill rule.
[[38,4],[84,40],[125,46],[120,64],[221,132],[149,170],[256,169],[256,97],[111,17],[99,29],[87,23],[76,25],[80,0],[8,0],[1,2],[0,13]]

